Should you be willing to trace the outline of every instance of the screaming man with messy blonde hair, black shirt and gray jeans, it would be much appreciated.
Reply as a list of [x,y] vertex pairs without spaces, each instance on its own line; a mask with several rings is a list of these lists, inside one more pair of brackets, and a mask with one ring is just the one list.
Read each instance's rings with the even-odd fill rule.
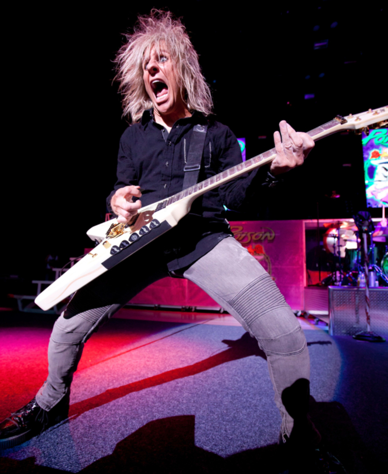
[[[233,133],[207,118],[211,97],[198,56],[184,26],[170,13],[139,18],[117,55],[117,69],[124,112],[133,122],[120,141],[117,182],[108,198],[120,222],[142,205],[182,190],[197,125],[207,128],[199,180],[241,162]],[[198,198],[176,228],[146,247],[153,255],[152,271],[142,264],[139,251],[74,295],[51,334],[49,376],[29,404],[2,422],[1,448],[67,417],[84,343],[130,298],[168,275],[194,281],[256,337],[267,356],[282,441],[290,436],[319,441],[307,416],[309,359],[303,331],[274,281],[233,238],[223,209],[224,203],[238,209],[255,199],[263,182],[275,183],[276,175],[301,165],[314,146],[306,133],[296,133],[285,121],[274,139],[276,158],[269,171],[256,170]]]

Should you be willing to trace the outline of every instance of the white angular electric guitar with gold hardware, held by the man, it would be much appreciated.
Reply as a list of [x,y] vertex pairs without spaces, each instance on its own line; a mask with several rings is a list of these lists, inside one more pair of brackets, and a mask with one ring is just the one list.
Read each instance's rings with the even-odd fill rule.
[[[342,130],[353,129],[359,133],[361,131],[368,133],[369,126],[374,128],[388,126],[388,106],[381,109],[370,109],[368,112],[358,115],[345,117],[337,115],[330,122],[307,133],[314,141],[317,141]],[[87,234],[93,241],[97,241],[98,245],[39,294],[35,303],[42,310],[49,310],[65,297],[102,275],[167,230],[175,227],[179,220],[190,211],[196,197],[259,166],[272,162],[275,156],[276,150],[272,148],[174,196],[143,207],[127,224],[120,224],[117,219],[113,219],[92,227]]]

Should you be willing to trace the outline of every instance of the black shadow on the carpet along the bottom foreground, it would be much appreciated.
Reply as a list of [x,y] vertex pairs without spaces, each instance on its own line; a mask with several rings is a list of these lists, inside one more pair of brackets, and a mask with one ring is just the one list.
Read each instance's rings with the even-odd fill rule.
[[[369,471],[365,448],[345,409],[337,402],[317,403],[311,397],[311,417],[320,429],[326,447],[346,467],[348,474]],[[113,453],[93,462],[82,474],[117,473],[236,473],[280,474],[287,471],[284,446],[272,444],[222,458],[194,444],[195,417],[181,415],[155,420],[116,444]],[[305,446],[299,446],[304,456]],[[18,461],[2,458],[2,472],[21,474],[65,473],[34,464],[35,458]],[[311,473],[313,474],[313,473]]]

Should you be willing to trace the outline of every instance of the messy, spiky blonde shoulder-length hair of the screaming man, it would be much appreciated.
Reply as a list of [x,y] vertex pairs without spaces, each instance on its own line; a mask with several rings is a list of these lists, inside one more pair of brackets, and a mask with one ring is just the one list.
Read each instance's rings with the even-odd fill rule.
[[191,44],[186,28],[170,12],[152,10],[150,16],[139,16],[133,33],[116,56],[116,77],[123,96],[123,115],[133,122],[152,107],[143,82],[143,60],[155,45],[167,49],[178,76],[182,98],[189,110],[209,115],[212,109],[210,89],[201,74],[198,54]]

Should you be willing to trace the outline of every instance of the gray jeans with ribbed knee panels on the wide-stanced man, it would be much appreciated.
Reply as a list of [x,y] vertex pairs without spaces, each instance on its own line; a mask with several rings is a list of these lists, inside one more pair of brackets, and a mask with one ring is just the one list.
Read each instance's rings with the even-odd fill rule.
[[[306,338],[275,282],[233,237],[222,240],[183,275],[257,339],[267,356],[282,433],[290,436],[293,418],[284,407],[282,393],[298,380],[308,380],[310,366]],[[164,262],[145,262],[140,251],[74,295],[50,337],[49,376],[36,395],[41,408],[51,409],[68,392],[83,345],[92,333],[135,294],[166,276]]]

